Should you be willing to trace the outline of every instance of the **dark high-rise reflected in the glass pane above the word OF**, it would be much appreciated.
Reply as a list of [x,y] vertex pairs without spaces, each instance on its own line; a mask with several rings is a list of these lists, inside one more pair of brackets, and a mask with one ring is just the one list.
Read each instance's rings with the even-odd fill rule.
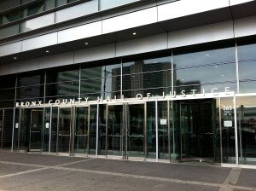
[[129,67],[123,67],[123,90],[126,97],[137,94],[160,96],[162,91],[172,90],[172,72],[170,62],[147,63],[135,61]]

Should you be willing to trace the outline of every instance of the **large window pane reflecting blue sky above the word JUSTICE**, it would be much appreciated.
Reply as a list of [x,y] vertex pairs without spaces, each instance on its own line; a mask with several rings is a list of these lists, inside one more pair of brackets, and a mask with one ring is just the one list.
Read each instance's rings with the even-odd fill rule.
[[236,57],[235,48],[210,49],[173,56],[174,88],[177,94],[186,90],[202,93],[218,88],[224,92],[224,87],[232,86],[236,91]]

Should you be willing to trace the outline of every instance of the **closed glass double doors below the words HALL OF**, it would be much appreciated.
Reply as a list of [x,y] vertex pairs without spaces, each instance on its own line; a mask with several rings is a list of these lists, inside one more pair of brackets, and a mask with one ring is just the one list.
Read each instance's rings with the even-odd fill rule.
[[145,103],[108,105],[108,155],[145,157]]

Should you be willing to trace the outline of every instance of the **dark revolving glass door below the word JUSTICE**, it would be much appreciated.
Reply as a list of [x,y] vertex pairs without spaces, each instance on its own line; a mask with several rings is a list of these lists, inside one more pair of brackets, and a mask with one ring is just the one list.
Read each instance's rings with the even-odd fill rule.
[[181,160],[214,161],[213,101],[180,102]]

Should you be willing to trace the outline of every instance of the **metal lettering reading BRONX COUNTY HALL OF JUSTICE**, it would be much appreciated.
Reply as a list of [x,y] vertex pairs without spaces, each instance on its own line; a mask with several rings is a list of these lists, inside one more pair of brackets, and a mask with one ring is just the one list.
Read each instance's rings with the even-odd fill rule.
[[[170,92],[170,94],[167,94],[165,92],[162,92],[161,96],[157,96],[157,98],[161,98],[161,99],[172,99],[172,98],[192,98],[192,97],[196,97],[196,96],[227,96],[227,95],[231,95],[232,91],[230,91],[230,87],[225,87],[224,88],[224,92],[219,92],[218,88],[213,88],[211,90],[211,92],[206,92],[205,90],[202,90],[201,94],[196,94],[197,90],[190,90],[189,93],[192,94],[188,94],[188,92],[186,92],[186,90],[181,90],[177,95],[177,92],[174,91],[173,94],[172,92]],[[143,97],[142,94],[137,94],[137,96],[133,99],[135,100],[143,100],[143,99],[150,99],[150,97],[153,97],[152,94],[150,92],[148,92],[146,94],[146,97]],[[154,96],[156,97],[156,96]],[[97,102],[110,102],[110,101],[123,101],[125,98],[124,96],[121,99],[117,99],[117,96],[113,96],[113,99],[111,99],[109,96],[106,97],[106,99],[103,99],[101,96],[98,96]],[[131,98],[132,99],[132,98]],[[130,100],[130,99],[129,99]],[[90,101],[90,97],[79,97],[79,98],[72,98],[72,99],[62,99],[62,100],[49,100],[48,106],[59,106],[59,105],[73,105],[73,104],[82,104],[82,103],[88,103]],[[43,101],[26,101],[26,102],[16,102],[15,107],[41,107],[41,106],[45,106],[45,104],[43,104]]]

